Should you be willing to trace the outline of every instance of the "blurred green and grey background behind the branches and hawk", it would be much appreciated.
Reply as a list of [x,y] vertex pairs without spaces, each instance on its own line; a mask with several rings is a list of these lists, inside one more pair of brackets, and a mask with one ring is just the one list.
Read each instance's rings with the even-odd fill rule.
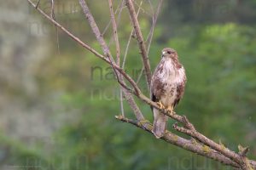
[[[87,2],[104,31],[108,1]],[[120,3],[114,1],[114,8]],[[140,1],[135,3],[138,8]],[[56,31],[26,1],[0,4],[0,169],[231,169],[115,120],[120,99],[111,68]],[[39,7],[50,13],[49,1],[41,0]],[[143,0],[142,7],[146,38],[157,1]],[[162,48],[177,50],[188,77],[177,112],[231,150],[250,146],[250,159],[256,159],[255,8],[251,0],[164,1],[148,54],[154,70]],[[101,51],[79,1],[55,0],[55,17]],[[122,57],[130,32],[124,8]],[[104,37],[114,52],[111,33],[110,26]],[[125,70],[134,79],[142,68],[138,51],[132,38]],[[145,89],[144,78],[139,86]],[[148,105],[138,103],[152,122]],[[126,104],[125,116],[134,118]]]

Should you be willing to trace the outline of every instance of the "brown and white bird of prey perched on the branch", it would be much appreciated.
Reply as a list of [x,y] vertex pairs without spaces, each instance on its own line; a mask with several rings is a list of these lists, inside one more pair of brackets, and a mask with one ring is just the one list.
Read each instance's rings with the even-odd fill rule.
[[[150,85],[151,99],[160,105],[161,109],[173,111],[183,97],[186,84],[186,74],[178,61],[177,52],[172,48],[164,48],[159,65],[154,70]],[[154,127],[152,133],[159,139],[165,131],[168,116],[152,108],[154,113]]]

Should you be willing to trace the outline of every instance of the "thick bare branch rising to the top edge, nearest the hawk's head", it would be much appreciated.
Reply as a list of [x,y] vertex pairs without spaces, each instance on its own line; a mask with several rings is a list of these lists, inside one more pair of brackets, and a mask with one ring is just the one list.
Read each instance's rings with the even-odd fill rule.
[[143,65],[144,65],[144,69],[145,69],[145,73],[146,73],[146,79],[147,79],[147,83],[148,83],[148,89],[150,87],[150,82],[151,82],[151,70],[150,70],[150,64],[149,64],[149,60],[148,60],[148,53],[147,53],[147,49],[146,49],[146,45],[145,42],[143,40],[143,34],[142,31],[140,29],[138,20],[137,20],[137,14],[135,12],[135,8],[133,6],[133,3],[131,0],[126,0],[126,5],[129,9],[129,13],[131,16],[131,22],[132,25],[134,27],[135,33],[137,35],[137,42],[139,45],[139,48],[141,49],[141,54],[142,54],[142,58],[143,58]]

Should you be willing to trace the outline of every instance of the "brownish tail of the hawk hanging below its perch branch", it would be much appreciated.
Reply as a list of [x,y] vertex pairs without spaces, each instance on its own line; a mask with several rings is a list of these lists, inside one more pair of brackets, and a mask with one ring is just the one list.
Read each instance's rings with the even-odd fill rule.
[[153,112],[154,112],[154,127],[152,130],[152,133],[154,133],[155,138],[160,139],[162,136],[164,136],[168,116],[164,115],[157,109],[153,109]]

